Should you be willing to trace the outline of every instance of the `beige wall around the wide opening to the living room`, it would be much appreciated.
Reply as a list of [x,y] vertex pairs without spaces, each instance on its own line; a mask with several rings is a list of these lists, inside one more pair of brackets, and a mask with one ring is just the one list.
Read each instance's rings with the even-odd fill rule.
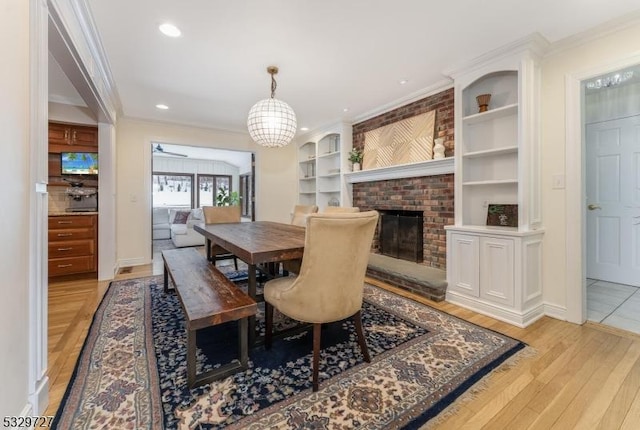
[[296,202],[295,145],[263,148],[248,133],[121,119],[116,134],[116,225],[120,266],[151,260],[151,142],[256,154],[256,219],[289,222]]

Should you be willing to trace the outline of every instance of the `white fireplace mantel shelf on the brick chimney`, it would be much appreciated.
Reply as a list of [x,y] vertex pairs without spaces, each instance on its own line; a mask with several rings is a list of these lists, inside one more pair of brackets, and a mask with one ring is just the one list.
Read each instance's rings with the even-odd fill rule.
[[439,160],[428,160],[419,163],[401,164],[399,166],[347,172],[344,174],[344,179],[349,184],[355,184],[358,182],[384,181],[387,179],[445,175],[447,173],[453,173],[453,163],[453,157],[446,157]]

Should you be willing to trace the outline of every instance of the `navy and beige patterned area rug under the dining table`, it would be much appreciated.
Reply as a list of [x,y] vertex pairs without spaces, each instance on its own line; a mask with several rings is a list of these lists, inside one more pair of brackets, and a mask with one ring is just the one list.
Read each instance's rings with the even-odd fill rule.
[[[363,323],[371,363],[362,360],[350,320],[323,329],[316,393],[309,332],[276,338],[270,351],[255,347],[245,372],[190,390],[176,295],[163,293],[161,277],[113,282],[54,427],[419,428],[524,347],[371,285]],[[235,354],[236,333],[235,323],[198,333],[199,371]]]

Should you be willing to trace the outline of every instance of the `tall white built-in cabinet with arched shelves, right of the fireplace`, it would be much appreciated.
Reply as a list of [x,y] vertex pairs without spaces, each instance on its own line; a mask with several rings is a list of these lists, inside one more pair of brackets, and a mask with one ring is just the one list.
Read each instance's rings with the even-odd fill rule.
[[[451,72],[455,82],[455,225],[447,300],[520,327],[544,315],[538,58],[532,36]],[[476,97],[491,94],[479,112]],[[489,204],[518,206],[518,226],[487,226]]]

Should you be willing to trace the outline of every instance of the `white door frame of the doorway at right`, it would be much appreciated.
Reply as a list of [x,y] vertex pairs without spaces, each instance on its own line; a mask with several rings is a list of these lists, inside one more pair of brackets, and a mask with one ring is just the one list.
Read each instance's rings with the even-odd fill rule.
[[[640,55],[568,74],[566,88],[565,145],[565,255],[566,320],[582,324],[587,317],[586,163],[583,82],[596,76],[640,64]],[[580,245],[581,252],[574,252]]]

